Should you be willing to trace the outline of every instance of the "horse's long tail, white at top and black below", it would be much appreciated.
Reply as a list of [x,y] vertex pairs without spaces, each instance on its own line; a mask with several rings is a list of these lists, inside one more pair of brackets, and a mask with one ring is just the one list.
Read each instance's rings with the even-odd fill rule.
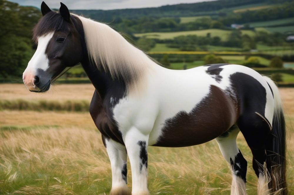
[[263,77],[270,86],[274,97],[274,116],[272,131],[266,141],[266,164],[271,178],[269,189],[273,194],[287,194],[285,178],[286,171],[286,140],[285,140],[285,119],[283,114],[282,101],[278,87],[268,77]]

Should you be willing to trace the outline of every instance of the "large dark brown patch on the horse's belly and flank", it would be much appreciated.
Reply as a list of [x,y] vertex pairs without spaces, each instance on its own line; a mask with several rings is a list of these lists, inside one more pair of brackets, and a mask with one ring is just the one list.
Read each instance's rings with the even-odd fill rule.
[[184,147],[208,142],[227,131],[237,120],[234,101],[220,88],[210,93],[191,112],[166,119],[163,135],[153,146]]

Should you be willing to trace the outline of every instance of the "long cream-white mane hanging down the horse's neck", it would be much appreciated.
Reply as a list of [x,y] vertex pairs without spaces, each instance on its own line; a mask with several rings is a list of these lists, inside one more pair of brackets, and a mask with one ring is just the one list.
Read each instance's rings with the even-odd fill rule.
[[77,17],[83,24],[89,58],[99,70],[108,71],[113,79],[125,81],[127,90],[135,87],[133,85],[138,83],[146,70],[155,64],[110,26]]

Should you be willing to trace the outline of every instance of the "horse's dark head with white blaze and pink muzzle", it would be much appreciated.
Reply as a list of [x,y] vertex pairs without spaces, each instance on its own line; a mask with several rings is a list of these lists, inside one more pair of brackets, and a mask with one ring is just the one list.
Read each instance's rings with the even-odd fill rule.
[[43,17],[34,28],[33,39],[38,43],[35,54],[23,73],[30,91],[45,92],[50,84],[68,67],[82,58],[81,35],[75,27],[76,18],[61,3],[59,13],[42,2]]

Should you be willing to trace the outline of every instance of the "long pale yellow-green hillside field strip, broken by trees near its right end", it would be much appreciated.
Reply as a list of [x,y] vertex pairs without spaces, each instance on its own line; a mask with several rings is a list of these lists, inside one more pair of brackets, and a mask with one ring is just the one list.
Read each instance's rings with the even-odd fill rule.
[[[254,36],[255,33],[251,30],[241,30],[243,34]],[[221,30],[221,29],[206,29],[206,30],[191,30],[191,31],[181,31],[181,32],[168,32],[168,33],[137,33],[134,34],[135,37],[147,38],[157,38],[157,39],[173,39],[181,35],[197,35],[197,36],[206,36],[207,33],[211,33],[211,36],[218,36],[222,40],[227,40],[228,35],[232,31],[230,30]]]

